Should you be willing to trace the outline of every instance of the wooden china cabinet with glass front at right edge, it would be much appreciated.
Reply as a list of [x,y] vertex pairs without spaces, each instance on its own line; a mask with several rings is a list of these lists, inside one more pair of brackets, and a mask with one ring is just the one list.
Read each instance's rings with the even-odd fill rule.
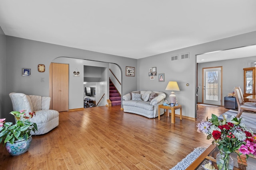
[[256,67],[244,68],[244,97],[256,95],[255,69]]

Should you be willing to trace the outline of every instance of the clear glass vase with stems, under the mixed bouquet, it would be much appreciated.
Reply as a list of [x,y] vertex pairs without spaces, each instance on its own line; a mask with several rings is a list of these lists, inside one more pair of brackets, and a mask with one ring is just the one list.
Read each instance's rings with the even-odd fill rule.
[[233,170],[234,160],[231,158],[230,153],[222,152],[216,155],[216,163],[219,170]]

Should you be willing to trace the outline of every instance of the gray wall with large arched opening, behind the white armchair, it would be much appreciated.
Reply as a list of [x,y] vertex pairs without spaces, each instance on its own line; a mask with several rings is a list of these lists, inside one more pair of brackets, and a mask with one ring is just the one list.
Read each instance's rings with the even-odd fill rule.
[[[137,90],[137,75],[125,76],[125,67],[137,68],[137,60],[93,51],[86,51],[60,45],[32,41],[17,37],[6,36],[6,94],[10,92],[22,92],[40,96],[49,96],[49,65],[58,57],[70,57],[116,63],[122,69],[122,92],[124,94]],[[38,72],[38,64],[46,66],[45,72]],[[31,77],[21,75],[22,68],[31,68]],[[74,72],[74,70],[72,70]],[[41,82],[41,78],[44,82]],[[134,82],[130,84],[130,82]],[[104,85],[108,86],[107,83]],[[83,98],[83,97],[82,97]],[[10,98],[6,98],[7,111],[12,110]]]

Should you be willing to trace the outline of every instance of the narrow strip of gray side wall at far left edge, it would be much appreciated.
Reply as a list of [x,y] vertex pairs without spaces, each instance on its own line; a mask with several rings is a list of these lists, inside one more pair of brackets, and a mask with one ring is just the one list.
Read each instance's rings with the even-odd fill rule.
[[6,36],[0,27],[0,118],[6,113]]

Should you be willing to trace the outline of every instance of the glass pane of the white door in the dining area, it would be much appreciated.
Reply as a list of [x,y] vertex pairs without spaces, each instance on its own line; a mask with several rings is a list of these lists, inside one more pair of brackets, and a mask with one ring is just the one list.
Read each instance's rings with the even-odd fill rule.
[[218,101],[218,71],[206,71],[206,100]]

